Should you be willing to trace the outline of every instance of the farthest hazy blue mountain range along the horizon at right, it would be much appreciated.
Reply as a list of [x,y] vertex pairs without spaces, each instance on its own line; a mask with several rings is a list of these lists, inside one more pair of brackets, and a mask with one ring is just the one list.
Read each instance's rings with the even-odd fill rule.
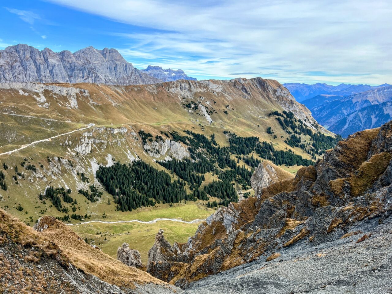
[[[388,84],[379,86],[370,85],[351,85],[351,84],[340,84],[337,86],[327,85],[326,83],[315,83],[314,85],[304,83],[285,83],[283,84],[290,93],[296,98],[298,102],[302,102],[309,98],[321,94],[328,94],[334,96],[348,96],[352,94],[362,93],[378,87],[388,86]],[[306,104],[305,104],[306,105]]]

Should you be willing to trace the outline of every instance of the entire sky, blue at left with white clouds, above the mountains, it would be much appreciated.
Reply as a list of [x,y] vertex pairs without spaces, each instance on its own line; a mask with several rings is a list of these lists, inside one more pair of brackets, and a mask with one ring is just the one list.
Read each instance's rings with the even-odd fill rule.
[[116,48],[138,68],[196,78],[392,83],[392,5],[364,0],[19,0],[0,49]]

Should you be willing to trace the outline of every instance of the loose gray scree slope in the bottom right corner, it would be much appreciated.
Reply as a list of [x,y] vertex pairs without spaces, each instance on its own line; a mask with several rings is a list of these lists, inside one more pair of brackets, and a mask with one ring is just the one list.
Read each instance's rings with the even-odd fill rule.
[[[272,261],[263,257],[191,283],[184,293],[388,293],[392,287],[391,227],[389,221],[370,232],[330,243],[289,247]],[[356,243],[365,234],[371,237]]]

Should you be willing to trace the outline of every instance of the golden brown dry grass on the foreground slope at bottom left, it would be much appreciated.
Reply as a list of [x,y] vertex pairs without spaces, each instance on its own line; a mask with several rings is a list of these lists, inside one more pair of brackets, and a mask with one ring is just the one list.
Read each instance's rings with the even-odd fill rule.
[[[64,223],[51,216],[44,216],[42,223],[48,224],[49,228],[42,232],[36,232],[0,209],[1,240],[4,242],[5,236],[8,236],[12,241],[22,246],[34,246],[42,250],[43,254],[56,257],[56,260],[64,266],[71,263],[83,272],[119,287],[134,288],[135,283],[165,284],[142,270],[127,267],[102,251],[94,249]],[[42,253],[37,250],[30,252],[25,259],[36,263],[41,256]]]

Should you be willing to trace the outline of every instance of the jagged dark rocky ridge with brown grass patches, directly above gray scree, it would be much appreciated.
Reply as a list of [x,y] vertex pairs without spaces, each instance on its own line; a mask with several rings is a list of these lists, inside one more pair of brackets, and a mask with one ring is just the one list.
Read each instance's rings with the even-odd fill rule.
[[272,254],[308,252],[375,231],[384,221],[390,224],[391,158],[392,122],[358,132],[328,150],[314,167],[299,169],[295,178],[217,211],[187,243],[179,244],[175,258],[162,258],[151,273],[168,278],[174,272],[170,282],[186,288],[244,263],[265,263]]

